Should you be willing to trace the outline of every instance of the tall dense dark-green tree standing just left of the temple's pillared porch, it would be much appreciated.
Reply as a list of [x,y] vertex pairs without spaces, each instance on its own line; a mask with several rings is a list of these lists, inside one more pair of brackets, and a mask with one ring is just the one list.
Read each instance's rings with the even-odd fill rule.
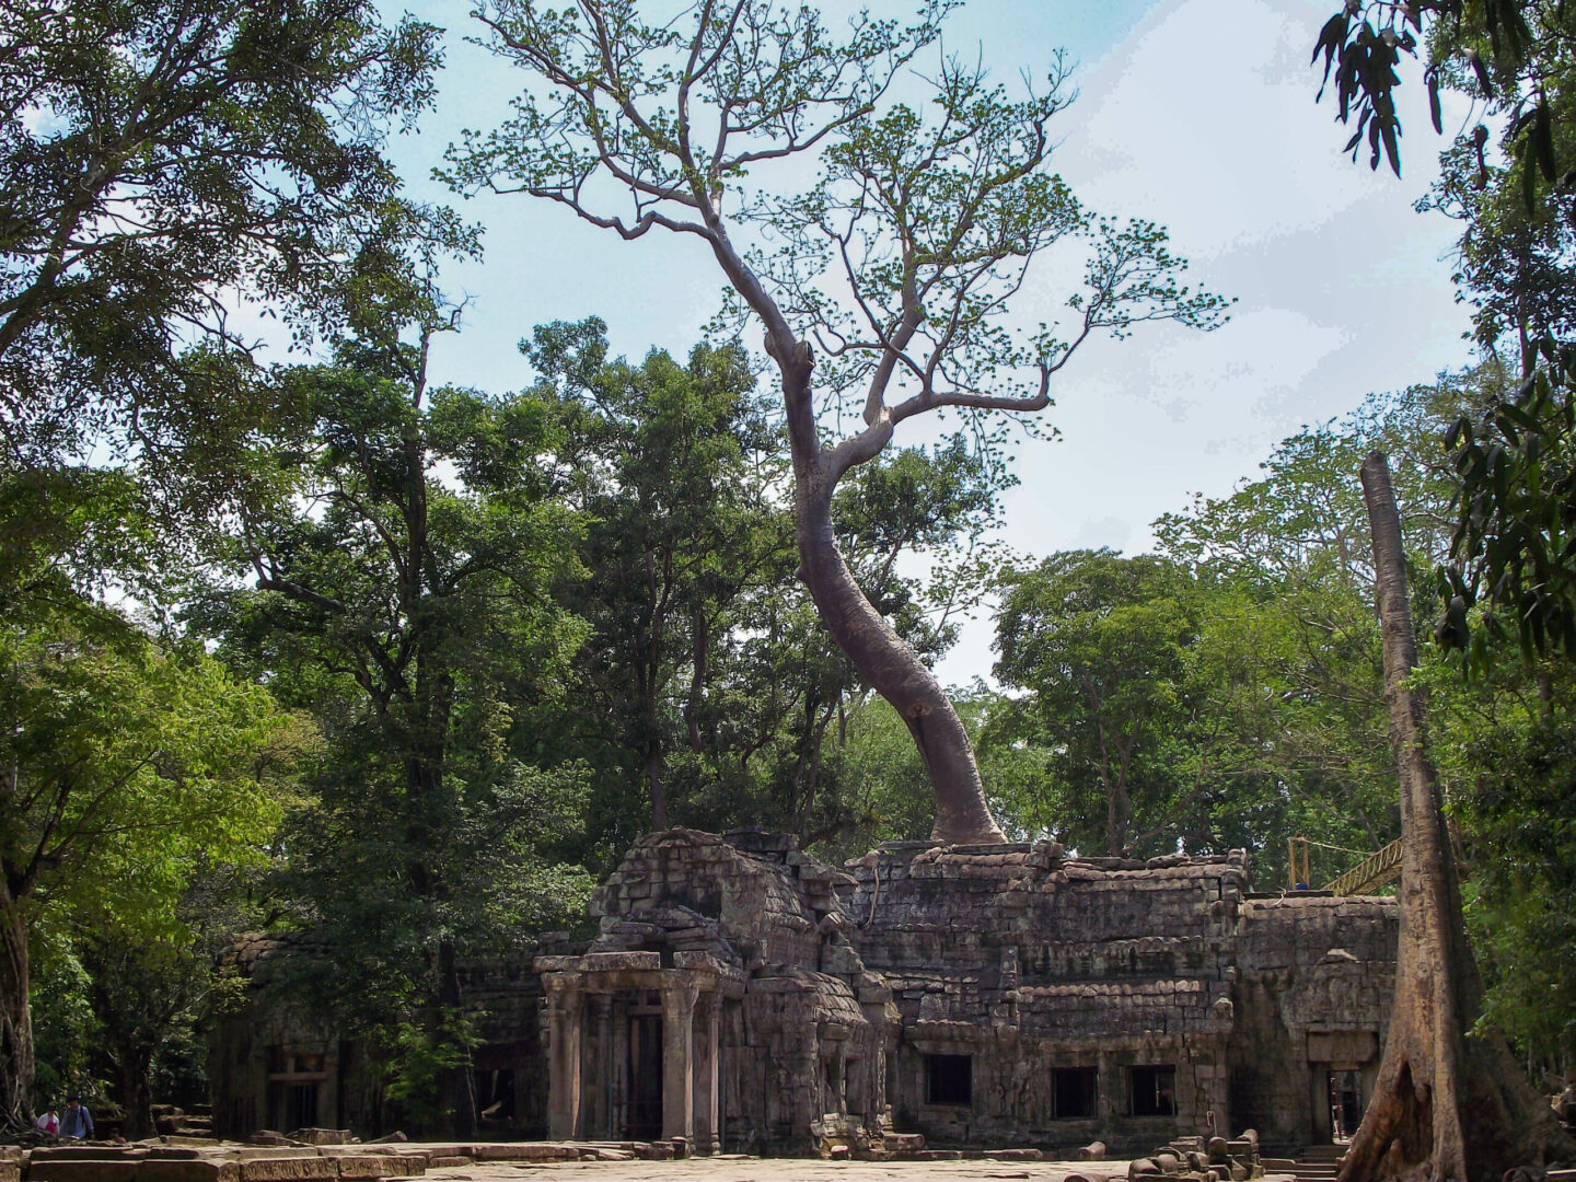
[[[315,799],[287,823],[287,886],[336,957],[298,968],[347,1029],[405,1023],[463,1067],[460,958],[585,894],[555,846],[580,775],[530,758],[531,703],[580,627],[548,594],[575,561],[542,462],[548,407],[430,389],[429,340],[385,334],[336,364],[243,375],[277,413],[241,466],[290,479],[214,506],[252,586],[221,583],[191,618],[328,738]],[[474,1127],[465,1070],[435,1111]]]

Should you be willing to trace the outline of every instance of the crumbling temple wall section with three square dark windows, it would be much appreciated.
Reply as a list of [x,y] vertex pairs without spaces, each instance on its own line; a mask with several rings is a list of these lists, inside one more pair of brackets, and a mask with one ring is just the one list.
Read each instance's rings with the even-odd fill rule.
[[[1245,859],[1069,859],[1053,843],[889,845],[849,862],[849,936],[892,988],[898,1128],[938,1144],[1146,1149],[1231,1125],[1228,1040]],[[968,1103],[935,1072],[968,1057]],[[1057,1110],[1057,1072],[1095,1072]],[[1147,1083],[1165,1103],[1135,1111]],[[1155,1098],[1155,1097],[1150,1097]]]

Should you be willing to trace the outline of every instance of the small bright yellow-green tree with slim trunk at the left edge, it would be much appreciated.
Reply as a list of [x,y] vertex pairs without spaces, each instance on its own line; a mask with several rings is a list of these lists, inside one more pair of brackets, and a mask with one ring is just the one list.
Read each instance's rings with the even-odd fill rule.
[[[191,878],[255,859],[263,774],[290,734],[268,693],[113,613],[0,634],[0,1124],[30,1116],[30,930],[41,908],[178,938]],[[173,933],[173,936],[172,936]]]

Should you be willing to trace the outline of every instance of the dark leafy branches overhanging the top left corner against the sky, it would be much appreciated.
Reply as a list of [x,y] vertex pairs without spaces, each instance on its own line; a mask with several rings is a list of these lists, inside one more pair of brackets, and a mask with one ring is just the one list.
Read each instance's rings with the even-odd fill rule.
[[225,293],[336,334],[375,303],[348,293],[399,288],[407,243],[468,246],[380,156],[430,102],[429,25],[367,0],[68,0],[9,5],[5,41],[0,432],[27,466],[158,443],[183,347],[251,344]]

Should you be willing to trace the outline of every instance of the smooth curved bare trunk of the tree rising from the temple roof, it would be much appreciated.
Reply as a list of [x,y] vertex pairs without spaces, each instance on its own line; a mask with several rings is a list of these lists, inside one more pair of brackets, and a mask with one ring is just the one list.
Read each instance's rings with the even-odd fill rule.
[[832,530],[837,481],[823,463],[815,427],[808,350],[801,347],[797,358],[777,361],[783,374],[793,446],[799,577],[810,589],[821,621],[859,676],[892,703],[914,736],[936,797],[931,837],[953,845],[1002,842],[1005,838],[985,802],[974,747],[958,712],[925,662],[870,605],[837,545]]

